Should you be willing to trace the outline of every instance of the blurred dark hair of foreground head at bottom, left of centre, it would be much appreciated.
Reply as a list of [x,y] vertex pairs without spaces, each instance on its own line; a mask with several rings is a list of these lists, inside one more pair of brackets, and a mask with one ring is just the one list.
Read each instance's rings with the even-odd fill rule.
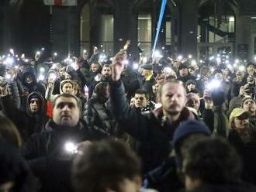
[[76,192],[121,191],[119,183],[140,176],[141,165],[136,154],[123,142],[112,139],[95,142],[76,156],[71,178]]

